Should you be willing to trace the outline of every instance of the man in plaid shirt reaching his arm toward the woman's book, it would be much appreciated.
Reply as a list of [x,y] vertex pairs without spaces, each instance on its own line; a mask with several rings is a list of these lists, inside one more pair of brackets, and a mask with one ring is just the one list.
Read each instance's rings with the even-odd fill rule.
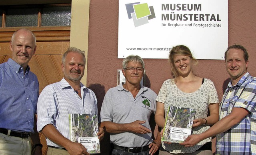
[[220,103],[220,121],[181,145],[193,146],[217,135],[217,155],[256,155],[256,78],[247,72],[248,57],[243,46],[228,47],[225,64],[231,80]]

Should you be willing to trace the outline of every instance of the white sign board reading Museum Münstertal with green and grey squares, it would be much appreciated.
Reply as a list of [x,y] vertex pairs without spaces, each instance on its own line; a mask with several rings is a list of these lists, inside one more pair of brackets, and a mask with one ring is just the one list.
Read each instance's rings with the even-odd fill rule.
[[228,0],[119,0],[118,58],[167,59],[176,45],[196,59],[224,59]]

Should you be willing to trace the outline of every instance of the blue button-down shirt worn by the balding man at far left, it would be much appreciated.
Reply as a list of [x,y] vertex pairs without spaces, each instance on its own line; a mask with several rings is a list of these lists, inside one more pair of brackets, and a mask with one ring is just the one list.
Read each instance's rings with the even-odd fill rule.
[[12,59],[0,64],[0,128],[34,132],[34,115],[39,95],[36,75]]

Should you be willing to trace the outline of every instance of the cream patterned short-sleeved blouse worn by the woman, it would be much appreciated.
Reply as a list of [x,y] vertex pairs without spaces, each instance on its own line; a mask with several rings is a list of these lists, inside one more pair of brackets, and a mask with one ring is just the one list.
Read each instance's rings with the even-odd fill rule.
[[[165,116],[169,106],[179,106],[195,109],[195,119],[206,118],[210,103],[219,103],[214,83],[207,78],[204,78],[200,88],[192,93],[182,92],[176,86],[174,79],[168,79],[162,84],[156,101],[164,103]],[[210,126],[208,125],[192,128],[192,134],[203,133],[209,128]],[[193,147],[184,147],[178,143],[166,144],[162,142],[162,147],[170,153],[192,153],[209,141],[211,141],[211,138],[204,139]]]

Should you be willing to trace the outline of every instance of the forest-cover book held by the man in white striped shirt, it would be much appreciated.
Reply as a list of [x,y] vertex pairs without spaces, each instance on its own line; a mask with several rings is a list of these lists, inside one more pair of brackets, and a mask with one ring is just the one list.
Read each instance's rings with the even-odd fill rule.
[[70,140],[82,143],[88,153],[100,153],[96,114],[69,114]]

